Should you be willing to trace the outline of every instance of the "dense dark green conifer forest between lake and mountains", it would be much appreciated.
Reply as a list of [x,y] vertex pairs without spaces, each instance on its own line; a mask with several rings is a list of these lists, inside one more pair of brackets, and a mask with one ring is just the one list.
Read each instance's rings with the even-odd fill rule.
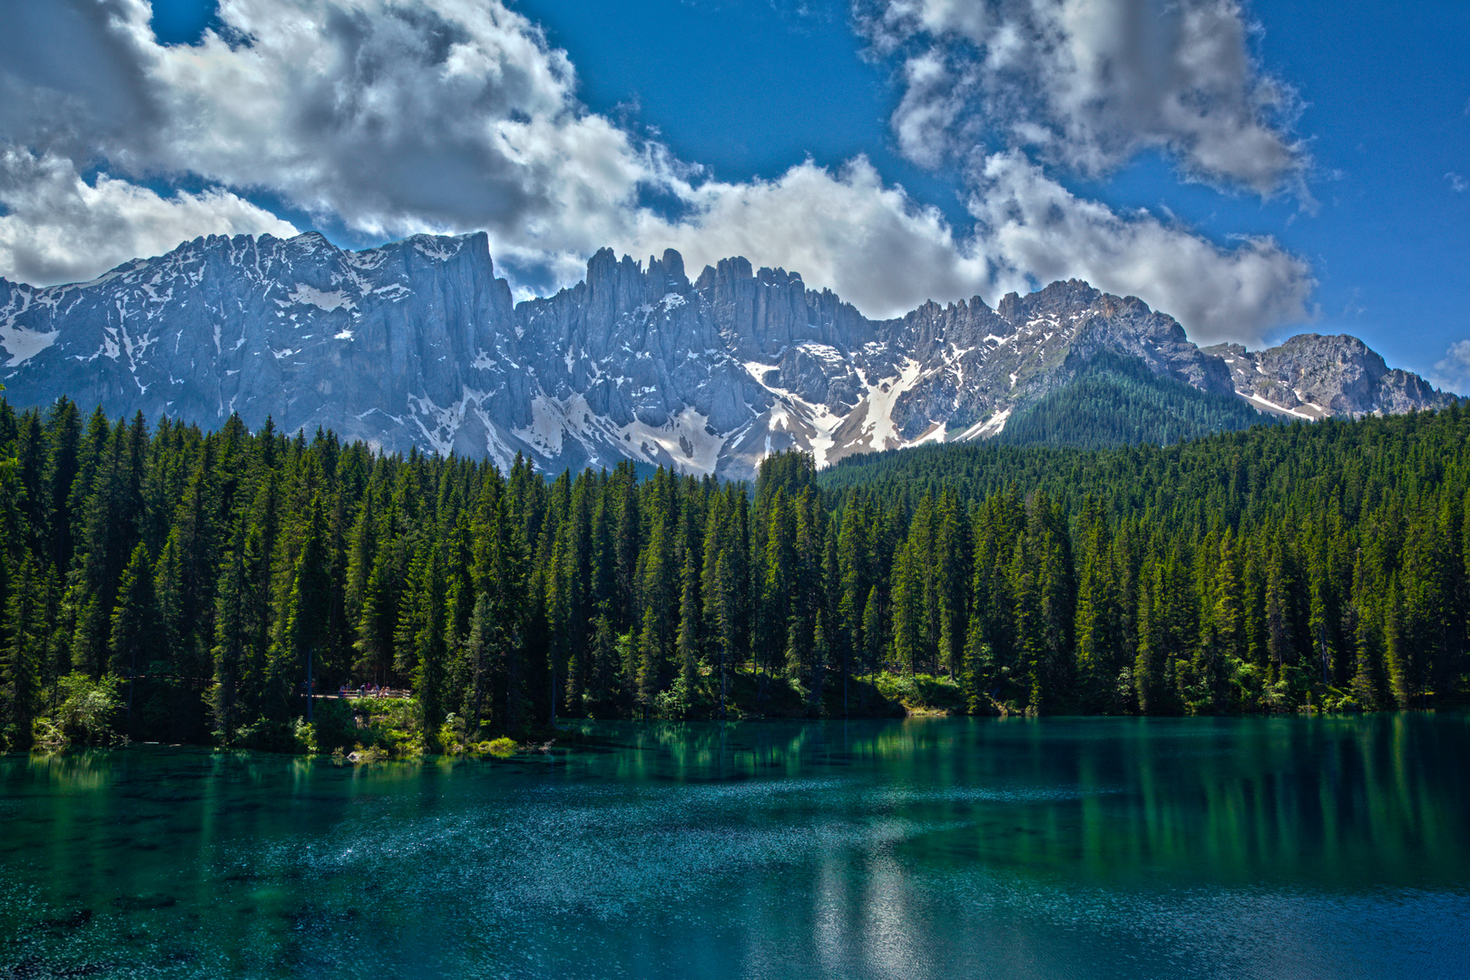
[[[979,714],[1433,707],[1467,686],[1467,436],[1451,407],[784,454],[745,485],[0,403],[4,742],[362,735],[307,685],[412,692],[429,751],[895,685]],[[345,727],[303,738],[313,710]]]

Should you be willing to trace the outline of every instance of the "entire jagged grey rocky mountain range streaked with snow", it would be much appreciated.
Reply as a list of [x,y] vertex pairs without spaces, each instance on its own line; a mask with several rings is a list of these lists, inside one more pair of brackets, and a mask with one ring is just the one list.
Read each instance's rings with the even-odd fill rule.
[[784,269],[601,250],[587,278],[513,303],[488,239],[417,235],[347,251],[209,237],[84,284],[0,279],[0,381],[21,406],[218,425],[238,413],[382,450],[516,453],[539,467],[623,458],[750,476],[772,451],[820,464],[995,436],[1100,356],[1220,404],[1299,419],[1442,407],[1352,336],[1200,348],[1170,316],[1085,282],[926,303],[872,320]]

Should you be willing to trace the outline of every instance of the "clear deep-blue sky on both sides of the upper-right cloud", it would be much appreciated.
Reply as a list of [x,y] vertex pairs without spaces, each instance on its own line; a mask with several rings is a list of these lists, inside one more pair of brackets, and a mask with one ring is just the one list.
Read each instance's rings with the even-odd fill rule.
[[[861,56],[847,4],[517,6],[572,53],[589,106],[637,104],[641,122],[720,176],[772,178],[804,154],[835,166],[867,153],[885,176],[966,219],[953,181],[895,151],[892,66]],[[1355,334],[1391,366],[1432,373],[1449,344],[1470,338],[1470,191],[1446,176],[1470,181],[1470,4],[1277,0],[1250,12],[1260,60],[1302,101],[1294,128],[1310,144],[1316,213],[1297,195],[1263,201],[1182,182],[1160,154],[1067,184],[1114,209],[1167,207],[1222,244],[1277,237],[1311,262],[1319,285],[1316,319],[1282,325],[1274,339]]]

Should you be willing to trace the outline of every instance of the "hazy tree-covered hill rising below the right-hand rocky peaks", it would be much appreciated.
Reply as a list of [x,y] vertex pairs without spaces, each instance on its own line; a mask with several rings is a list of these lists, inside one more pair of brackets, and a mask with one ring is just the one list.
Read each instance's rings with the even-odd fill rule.
[[1011,414],[995,441],[1102,450],[1141,442],[1172,445],[1213,432],[1279,423],[1239,398],[1155,375],[1136,357],[1097,354],[1075,370],[1070,382]]

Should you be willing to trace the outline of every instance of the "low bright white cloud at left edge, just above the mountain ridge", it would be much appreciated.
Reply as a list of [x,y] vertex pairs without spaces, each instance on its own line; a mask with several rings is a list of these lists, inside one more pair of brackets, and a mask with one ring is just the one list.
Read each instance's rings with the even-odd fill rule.
[[51,285],[90,279],[198,235],[297,234],[270,212],[222,190],[157,192],[106,173],[87,184],[71,160],[0,150],[0,275]]

